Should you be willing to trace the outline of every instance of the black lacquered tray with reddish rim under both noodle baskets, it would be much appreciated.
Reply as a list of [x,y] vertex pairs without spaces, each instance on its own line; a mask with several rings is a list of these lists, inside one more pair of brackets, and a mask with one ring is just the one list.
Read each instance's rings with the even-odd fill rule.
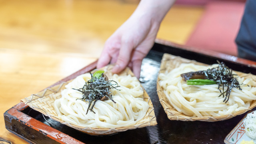
[[[46,116],[43,115],[29,107],[24,107],[20,109],[20,112],[24,116],[35,119],[36,121],[42,122],[40,124],[45,125],[46,128],[51,127],[57,132],[66,134],[67,137],[74,139],[76,143],[86,143],[86,144],[222,144],[224,143],[224,138],[227,134],[238,124],[238,122],[244,117],[245,114],[236,116],[229,120],[219,121],[219,122],[183,122],[183,121],[173,121],[167,118],[162,105],[159,102],[158,95],[156,93],[156,80],[158,76],[158,71],[160,68],[160,61],[164,53],[169,53],[176,56],[181,56],[190,60],[196,60],[198,62],[203,62],[206,64],[214,64],[216,60],[223,61],[227,66],[233,70],[256,74],[255,64],[256,62],[247,61],[243,59],[237,59],[233,56],[211,53],[211,52],[198,52],[197,50],[182,47],[172,43],[154,44],[152,50],[144,58],[142,62],[142,71],[140,81],[142,86],[145,88],[146,92],[150,96],[157,118],[158,124],[156,126],[149,126],[145,128],[138,128],[135,130],[128,130],[126,132],[120,132],[117,134],[109,136],[90,136],[84,134],[78,130],[74,130],[66,125],[60,124]],[[96,66],[96,64],[94,64]],[[79,73],[79,72],[78,72]],[[77,74],[78,74],[77,73]],[[75,75],[74,75],[75,76]],[[63,79],[62,81],[65,81]],[[10,109],[11,110],[11,109]],[[9,110],[9,111],[10,111]],[[51,138],[47,132],[46,139],[48,141],[36,141],[32,139],[33,133],[29,133],[31,128],[27,128],[26,131],[20,130],[20,132],[15,132],[14,128],[10,128],[18,120],[16,116],[13,116],[6,111],[5,118],[8,117],[6,121],[6,128],[11,132],[21,136],[30,143],[70,143],[70,141],[65,142],[60,140],[60,138]],[[14,121],[10,120],[11,118]],[[16,120],[16,121],[15,121]],[[21,129],[31,124],[20,124],[15,123],[16,129]],[[35,126],[33,126],[34,128]],[[35,128],[34,128],[35,129]],[[41,130],[42,131],[42,130]],[[43,132],[38,131],[40,134]],[[34,132],[36,134],[36,132]],[[39,134],[39,135],[40,135]],[[40,136],[38,136],[40,137]],[[60,141],[59,141],[60,140]]]

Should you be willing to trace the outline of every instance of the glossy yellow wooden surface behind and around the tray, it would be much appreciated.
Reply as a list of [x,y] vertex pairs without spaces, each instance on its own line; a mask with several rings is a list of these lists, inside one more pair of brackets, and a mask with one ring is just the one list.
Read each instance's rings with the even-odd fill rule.
[[[0,143],[27,143],[6,130],[3,113],[94,62],[136,6],[134,0],[0,0]],[[203,11],[175,5],[157,37],[184,44]]]

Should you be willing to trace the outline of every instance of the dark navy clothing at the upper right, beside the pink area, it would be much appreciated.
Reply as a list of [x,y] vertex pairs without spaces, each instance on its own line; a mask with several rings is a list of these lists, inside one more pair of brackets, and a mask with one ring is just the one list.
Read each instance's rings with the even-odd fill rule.
[[256,0],[247,0],[236,37],[238,57],[256,61]]

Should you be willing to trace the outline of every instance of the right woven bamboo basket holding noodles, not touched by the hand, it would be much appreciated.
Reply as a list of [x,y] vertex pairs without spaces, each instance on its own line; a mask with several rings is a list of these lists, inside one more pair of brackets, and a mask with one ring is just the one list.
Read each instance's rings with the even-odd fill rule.
[[[188,60],[185,58],[181,58],[179,56],[173,56],[170,54],[164,54],[162,61],[161,61],[161,66],[160,66],[160,73],[165,73],[170,72],[171,70],[173,70],[174,68],[180,66],[180,64],[182,63],[194,63],[194,64],[198,64],[198,65],[205,65],[207,66],[207,64],[203,64],[200,62],[196,62],[194,60]],[[254,81],[256,81],[256,76],[252,75],[252,74],[245,74],[242,72],[236,72],[236,74],[238,74],[238,76],[240,77],[244,77],[244,78],[252,78]],[[180,112],[176,111],[168,102],[168,99],[166,98],[166,95],[164,94],[164,90],[163,88],[160,86],[159,84],[159,78],[157,79],[157,94],[160,100],[160,103],[162,104],[164,111],[166,112],[168,118],[170,120],[182,120],[182,121],[206,121],[206,122],[215,122],[215,121],[220,121],[220,120],[228,120],[230,118],[233,118],[234,116],[240,115],[240,114],[244,114],[245,112],[247,112],[248,110],[252,110],[252,108],[254,108],[256,106],[256,100],[253,100],[250,104],[249,108],[246,108],[244,110],[240,110],[238,112],[235,112],[233,114],[228,114],[228,115],[224,115],[224,116],[201,116],[201,117],[191,117],[191,116],[186,116],[184,114],[181,114]]]

